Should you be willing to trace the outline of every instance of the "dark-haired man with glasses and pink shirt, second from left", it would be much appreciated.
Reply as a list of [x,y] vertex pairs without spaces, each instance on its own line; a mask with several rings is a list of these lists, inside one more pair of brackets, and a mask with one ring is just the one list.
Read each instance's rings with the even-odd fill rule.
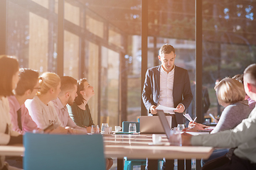
[[13,130],[24,134],[33,130],[40,130],[36,123],[32,120],[25,106],[27,99],[33,99],[36,92],[40,89],[38,72],[33,69],[20,69],[19,81],[14,90],[15,95],[9,96],[9,106],[11,114],[11,123]]

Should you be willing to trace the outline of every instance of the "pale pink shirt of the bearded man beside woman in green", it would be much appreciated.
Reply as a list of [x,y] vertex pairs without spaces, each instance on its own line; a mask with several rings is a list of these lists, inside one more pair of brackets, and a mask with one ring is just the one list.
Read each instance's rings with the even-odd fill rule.
[[58,114],[58,117],[60,119],[60,122],[62,123],[63,127],[70,127],[77,130],[82,130],[84,132],[87,132],[86,128],[82,128],[78,125],[75,125],[72,118],[70,118],[70,115],[68,113],[67,106],[63,106],[63,104],[60,101],[60,98],[57,98],[56,100],[53,100],[53,105],[55,107],[55,110]]

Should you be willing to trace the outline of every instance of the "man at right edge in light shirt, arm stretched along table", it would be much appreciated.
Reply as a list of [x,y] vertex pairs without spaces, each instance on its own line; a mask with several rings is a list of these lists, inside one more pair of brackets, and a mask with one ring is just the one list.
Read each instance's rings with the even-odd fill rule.
[[[251,64],[244,72],[245,93],[256,101],[256,64]],[[242,120],[233,130],[225,130],[210,135],[191,136],[183,133],[183,145],[203,145],[208,147],[237,147],[228,164],[218,169],[255,169],[256,164],[256,108],[249,117]]]

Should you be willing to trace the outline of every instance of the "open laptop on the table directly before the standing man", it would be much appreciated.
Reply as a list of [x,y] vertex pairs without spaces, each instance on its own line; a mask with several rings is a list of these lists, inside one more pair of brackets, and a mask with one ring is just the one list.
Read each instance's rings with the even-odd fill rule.
[[[166,122],[171,127],[171,116],[166,116]],[[159,116],[140,116],[139,128],[141,133],[147,134],[164,134],[164,128],[161,125]]]

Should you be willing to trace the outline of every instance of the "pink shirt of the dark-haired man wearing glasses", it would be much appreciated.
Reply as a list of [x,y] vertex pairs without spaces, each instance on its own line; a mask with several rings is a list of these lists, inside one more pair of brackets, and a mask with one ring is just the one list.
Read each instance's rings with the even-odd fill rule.
[[[28,109],[26,108],[25,104],[19,105],[15,96],[8,97],[9,106],[10,106],[10,115],[11,115],[11,123],[13,125],[13,130],[19,132],[20,134],[24,134],[25,132],[30,132],[33,130],[38,130],[38,126],[32,120],[31,116],[28,113]],[[18,120],[17,120],[17,111],[21,108],[21,125],[22,130],[18,128]]]

